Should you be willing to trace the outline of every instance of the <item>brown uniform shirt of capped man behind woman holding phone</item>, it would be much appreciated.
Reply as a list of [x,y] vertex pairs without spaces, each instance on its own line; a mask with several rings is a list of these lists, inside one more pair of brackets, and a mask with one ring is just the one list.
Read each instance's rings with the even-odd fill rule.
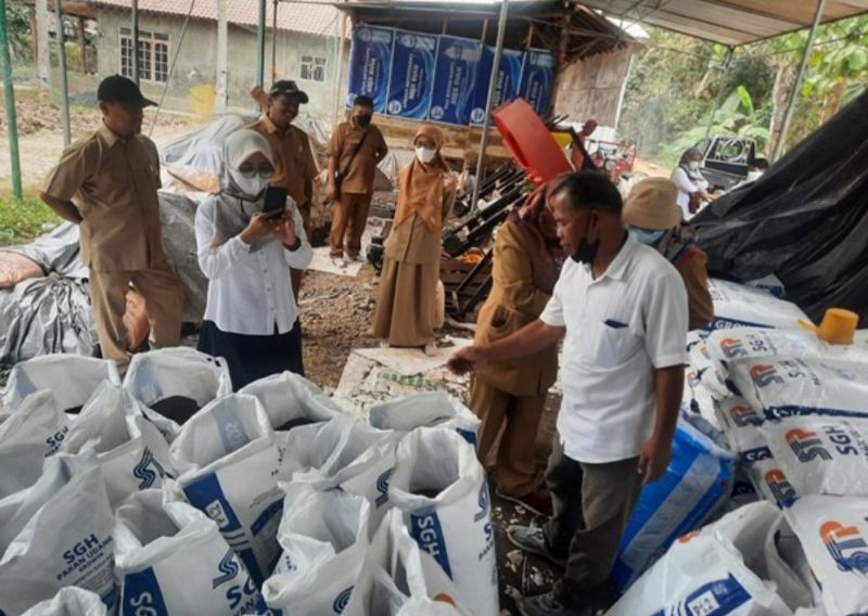
[[317,164],[310,151],[310,140],[301,128],[290,126],[281,134],[278,127],[266,116],[251,125],[268,140],[275,159],[275,175],[271,183],[286,189],[289,195],[299,207],[306,207],[314,198],[314,178]]

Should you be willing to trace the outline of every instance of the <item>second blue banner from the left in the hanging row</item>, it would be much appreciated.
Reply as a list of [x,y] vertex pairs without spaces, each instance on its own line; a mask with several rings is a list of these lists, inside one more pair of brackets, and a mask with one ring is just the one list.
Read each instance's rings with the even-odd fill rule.
[[395,52],[388,88],[388,115],[425,119],[434,88],[437,37],[395,31]]

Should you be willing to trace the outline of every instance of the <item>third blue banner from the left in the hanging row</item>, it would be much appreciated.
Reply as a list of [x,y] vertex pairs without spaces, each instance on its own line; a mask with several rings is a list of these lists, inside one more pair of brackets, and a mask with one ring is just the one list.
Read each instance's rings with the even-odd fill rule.
[[448,36],[439,39],[427,117],[444,124],[468,126],[473,111],[474,88],[480,79],[483,44]]

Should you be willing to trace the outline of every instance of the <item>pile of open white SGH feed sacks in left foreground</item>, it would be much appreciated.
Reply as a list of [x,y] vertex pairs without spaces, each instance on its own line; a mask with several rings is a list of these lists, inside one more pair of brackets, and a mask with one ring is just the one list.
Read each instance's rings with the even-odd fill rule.
[[0,615],[497,616],[478,421],[424,394],[346,414],[291,373],[232,393],[188,348],[14,367]]

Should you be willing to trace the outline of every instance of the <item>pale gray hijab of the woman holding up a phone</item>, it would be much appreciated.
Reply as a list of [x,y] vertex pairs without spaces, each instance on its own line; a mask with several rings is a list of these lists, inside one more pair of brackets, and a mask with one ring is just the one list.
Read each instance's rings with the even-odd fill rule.
[[[220,168],[222,192],[217,196],[212,246],[220,246],[244,231],[251,217],[263,209],[264,195],[246,194],[241,188],[243,181],[239,171],[241,165],[256,153],[265,156],[273,166],[271,145],[258,132],[246,128],[237,130],[224,143]],[[257,243],[254,248],[258,248],[265,241]]]

